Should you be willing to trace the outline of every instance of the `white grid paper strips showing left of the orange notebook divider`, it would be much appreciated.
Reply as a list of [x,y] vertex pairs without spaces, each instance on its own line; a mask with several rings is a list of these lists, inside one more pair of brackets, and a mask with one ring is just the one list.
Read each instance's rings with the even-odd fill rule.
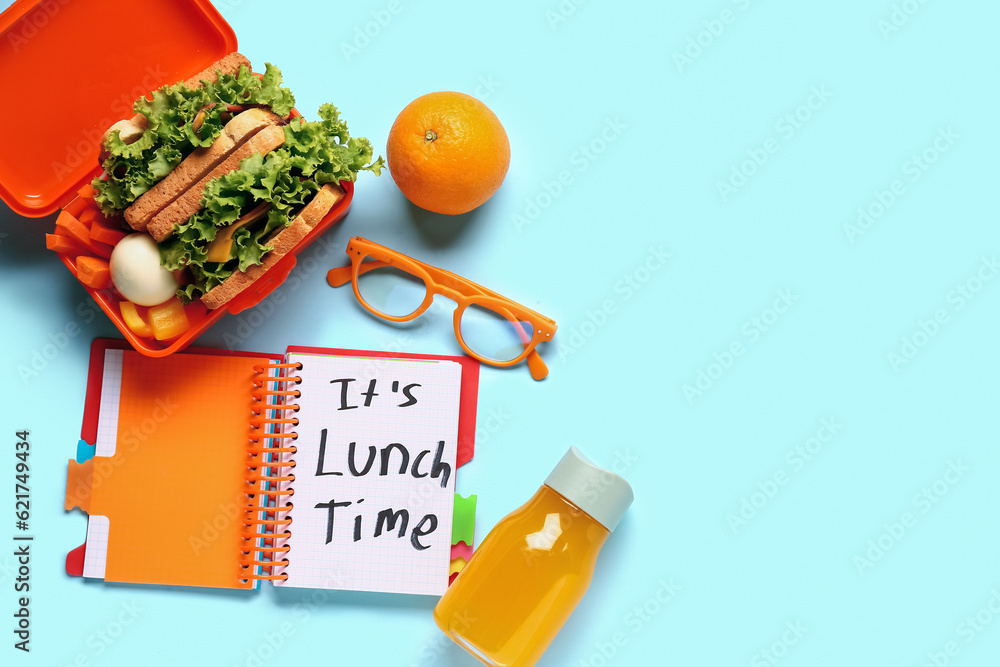
[[[104,351],[104,376],[101,380],[101,412],[97,416],[97,442],[94,456],[112,456],[118,438],[118,403],[122,391],[122,350]],[[83,560],[83,576],[104,578],[108,560],[108,526],[106,516],[87,519],[87,551]]]

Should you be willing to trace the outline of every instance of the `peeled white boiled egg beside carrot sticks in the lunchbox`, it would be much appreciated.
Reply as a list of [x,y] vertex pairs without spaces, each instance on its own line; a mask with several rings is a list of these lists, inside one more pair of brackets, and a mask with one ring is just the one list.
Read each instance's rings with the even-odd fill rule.
[[111,252],[111,282],[140,306],[163,303],[177,291],[173,271],[160,266],[160,248],[148,234],[126,236]]

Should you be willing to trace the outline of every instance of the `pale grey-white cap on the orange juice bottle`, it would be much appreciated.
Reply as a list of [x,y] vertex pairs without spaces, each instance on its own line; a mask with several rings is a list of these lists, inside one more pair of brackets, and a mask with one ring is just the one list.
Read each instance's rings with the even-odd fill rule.
[[632,487],[621,475],[598,468],[576,447],[569,448],[545,479],[545,485],[609,531],[622,520],[634,498]]

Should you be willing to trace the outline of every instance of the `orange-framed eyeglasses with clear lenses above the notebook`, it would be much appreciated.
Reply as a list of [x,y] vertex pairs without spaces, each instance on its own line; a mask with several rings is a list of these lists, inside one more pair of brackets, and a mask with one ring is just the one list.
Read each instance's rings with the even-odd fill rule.
[[531,377],[549,369],[535,347],[552,340],[556,323],[450,271],[407,257],[359,236],[347,244],[350,266],[330,269],[327,281],[340,287],[350,281],[354,295],[372,314],[391,322],[409,322],[430,307],[434,295],[453,300],[455,337],[472,357],[492,366],[513,366],[525,359]]

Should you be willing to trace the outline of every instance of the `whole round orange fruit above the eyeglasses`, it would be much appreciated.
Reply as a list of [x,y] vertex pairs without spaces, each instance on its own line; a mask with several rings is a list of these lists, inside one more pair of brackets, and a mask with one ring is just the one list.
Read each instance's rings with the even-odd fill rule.
[[385,149],[389,173],[406,198],[449,215],[492,197],[510,166],[500,120],[465,93],[429,93],[410,102],[392,124]]

